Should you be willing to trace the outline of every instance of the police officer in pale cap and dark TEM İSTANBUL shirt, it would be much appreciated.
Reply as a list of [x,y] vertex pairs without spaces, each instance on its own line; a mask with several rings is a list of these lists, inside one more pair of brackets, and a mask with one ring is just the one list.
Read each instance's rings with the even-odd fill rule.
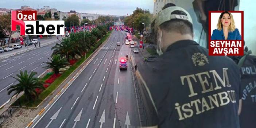
[[240,73],[193,41],[189,13],[167,4],[155,19],[159,54],[146,86],[160,128],[240,128]]

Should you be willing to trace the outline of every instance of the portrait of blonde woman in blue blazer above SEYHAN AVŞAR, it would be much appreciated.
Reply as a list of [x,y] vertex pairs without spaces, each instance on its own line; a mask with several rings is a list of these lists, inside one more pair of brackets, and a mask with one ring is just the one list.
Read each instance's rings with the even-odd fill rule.
[[211,31],[211,40],[241,40],[241,13],[211,13]]

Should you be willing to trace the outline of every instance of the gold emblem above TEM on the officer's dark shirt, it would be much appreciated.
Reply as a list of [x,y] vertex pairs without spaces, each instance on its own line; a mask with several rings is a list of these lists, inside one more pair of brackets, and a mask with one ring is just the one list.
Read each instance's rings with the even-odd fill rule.
[[191,59],[195,66],[197,66],[197,65],[204,66],[205,63],[209,63],[206,55],[203,53],[194,53],[194,55],[192,55]]

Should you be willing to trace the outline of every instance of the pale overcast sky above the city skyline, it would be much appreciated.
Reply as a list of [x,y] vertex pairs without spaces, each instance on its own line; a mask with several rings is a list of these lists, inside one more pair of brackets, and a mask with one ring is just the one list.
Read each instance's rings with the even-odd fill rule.
[[27,5],[31,8],[50,6],[59,11],[97,13],[106,15],[130,15],[136,7],[149,9],[153,12],[153,0],[0,0],[0,8],[18,9]]

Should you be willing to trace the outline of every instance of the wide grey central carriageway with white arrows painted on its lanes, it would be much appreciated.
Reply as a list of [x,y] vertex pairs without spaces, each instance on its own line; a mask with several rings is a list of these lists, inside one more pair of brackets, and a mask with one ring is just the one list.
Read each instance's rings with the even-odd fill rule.
[[[131,63],[119,70],[129,55],[125,34],[113,31],[88,66],[33,123],[35,128],[110,128],[140,126]],[[117,42],[121,46],[117,46]]]

